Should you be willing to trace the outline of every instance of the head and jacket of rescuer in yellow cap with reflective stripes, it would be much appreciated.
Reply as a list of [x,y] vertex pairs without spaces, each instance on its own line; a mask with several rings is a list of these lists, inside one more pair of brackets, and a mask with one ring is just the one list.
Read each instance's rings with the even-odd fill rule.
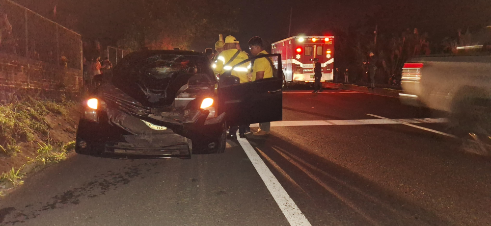
[[[232,67],[249,58],[246,52],[238,50],[237,44],[239,41],[234,36],[225,37],[225,50],[217,57],[217,62],[213,65],[215,73],[223,75],[223,73],[232,70]],[[238,65],[232,70],[232,75],[240,78],[241,83],[248,82],[247,72],[249,71],[249,62],[244,65]]]

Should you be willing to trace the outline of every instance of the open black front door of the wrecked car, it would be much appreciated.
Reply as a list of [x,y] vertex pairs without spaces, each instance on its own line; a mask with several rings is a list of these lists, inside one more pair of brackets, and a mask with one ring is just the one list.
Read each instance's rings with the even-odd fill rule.
[[273,70],[271,78],[239,83],[239,78],[231,75],[235,67],[220,75],[218,94],[220,105],[225,110],[227,126],[266,123],[283,119],[281,55],[260,55],[249,58],[237,66],[249,65],[252,60],[263,57],[271,57],[272,62],[278,64],[274,66],[280,69],[276,74]]

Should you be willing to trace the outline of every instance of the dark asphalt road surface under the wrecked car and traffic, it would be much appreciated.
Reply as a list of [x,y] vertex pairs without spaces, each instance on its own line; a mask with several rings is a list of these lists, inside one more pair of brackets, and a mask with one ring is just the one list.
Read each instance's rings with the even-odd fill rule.
[[343,90],[289,92],[285,122],[224,154],[74,155],[1,200],[0,225],[491,225],[491,158],[424,129],[444,129],[444,113]]

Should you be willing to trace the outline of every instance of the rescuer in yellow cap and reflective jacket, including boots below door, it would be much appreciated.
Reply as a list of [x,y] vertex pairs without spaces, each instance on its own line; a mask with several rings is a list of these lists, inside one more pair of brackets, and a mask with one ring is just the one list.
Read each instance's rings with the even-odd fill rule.
[[[247,65],[237,65],[244,60],[249,59],[246,52],[238,50],[239,41],[234,36],[225,37],[225,50],[223,50],[217,57],[217,63],[213,66],[215,72],[219,75],[232,70],[234,66],[237,66],[232,70],[231,75],[239,77],[241,83],[249,82],[247,77]],[[248,64],[248,63],[247,63]],[[237,139],[237,130],[241,138],[246,137],[246,129],[248,125],[230,126],[228,138]]]

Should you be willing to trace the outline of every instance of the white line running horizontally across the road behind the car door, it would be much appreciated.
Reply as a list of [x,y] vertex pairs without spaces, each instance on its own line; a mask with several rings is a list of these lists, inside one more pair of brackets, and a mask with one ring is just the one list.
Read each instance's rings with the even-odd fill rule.
[[[369,115],[369,114],[367,114]],[[373,115],[370,115],[373,116]],[[446,118],[423,118],[423,119],[358,119],[358,120],[315,120],[315,121],[279,121],[271,122],[271,126],[352,126],[352,125],[377,125],[377,124],[409,124],[409,123],[446,123]],[[252,124],[251,127],[259,127]]]

